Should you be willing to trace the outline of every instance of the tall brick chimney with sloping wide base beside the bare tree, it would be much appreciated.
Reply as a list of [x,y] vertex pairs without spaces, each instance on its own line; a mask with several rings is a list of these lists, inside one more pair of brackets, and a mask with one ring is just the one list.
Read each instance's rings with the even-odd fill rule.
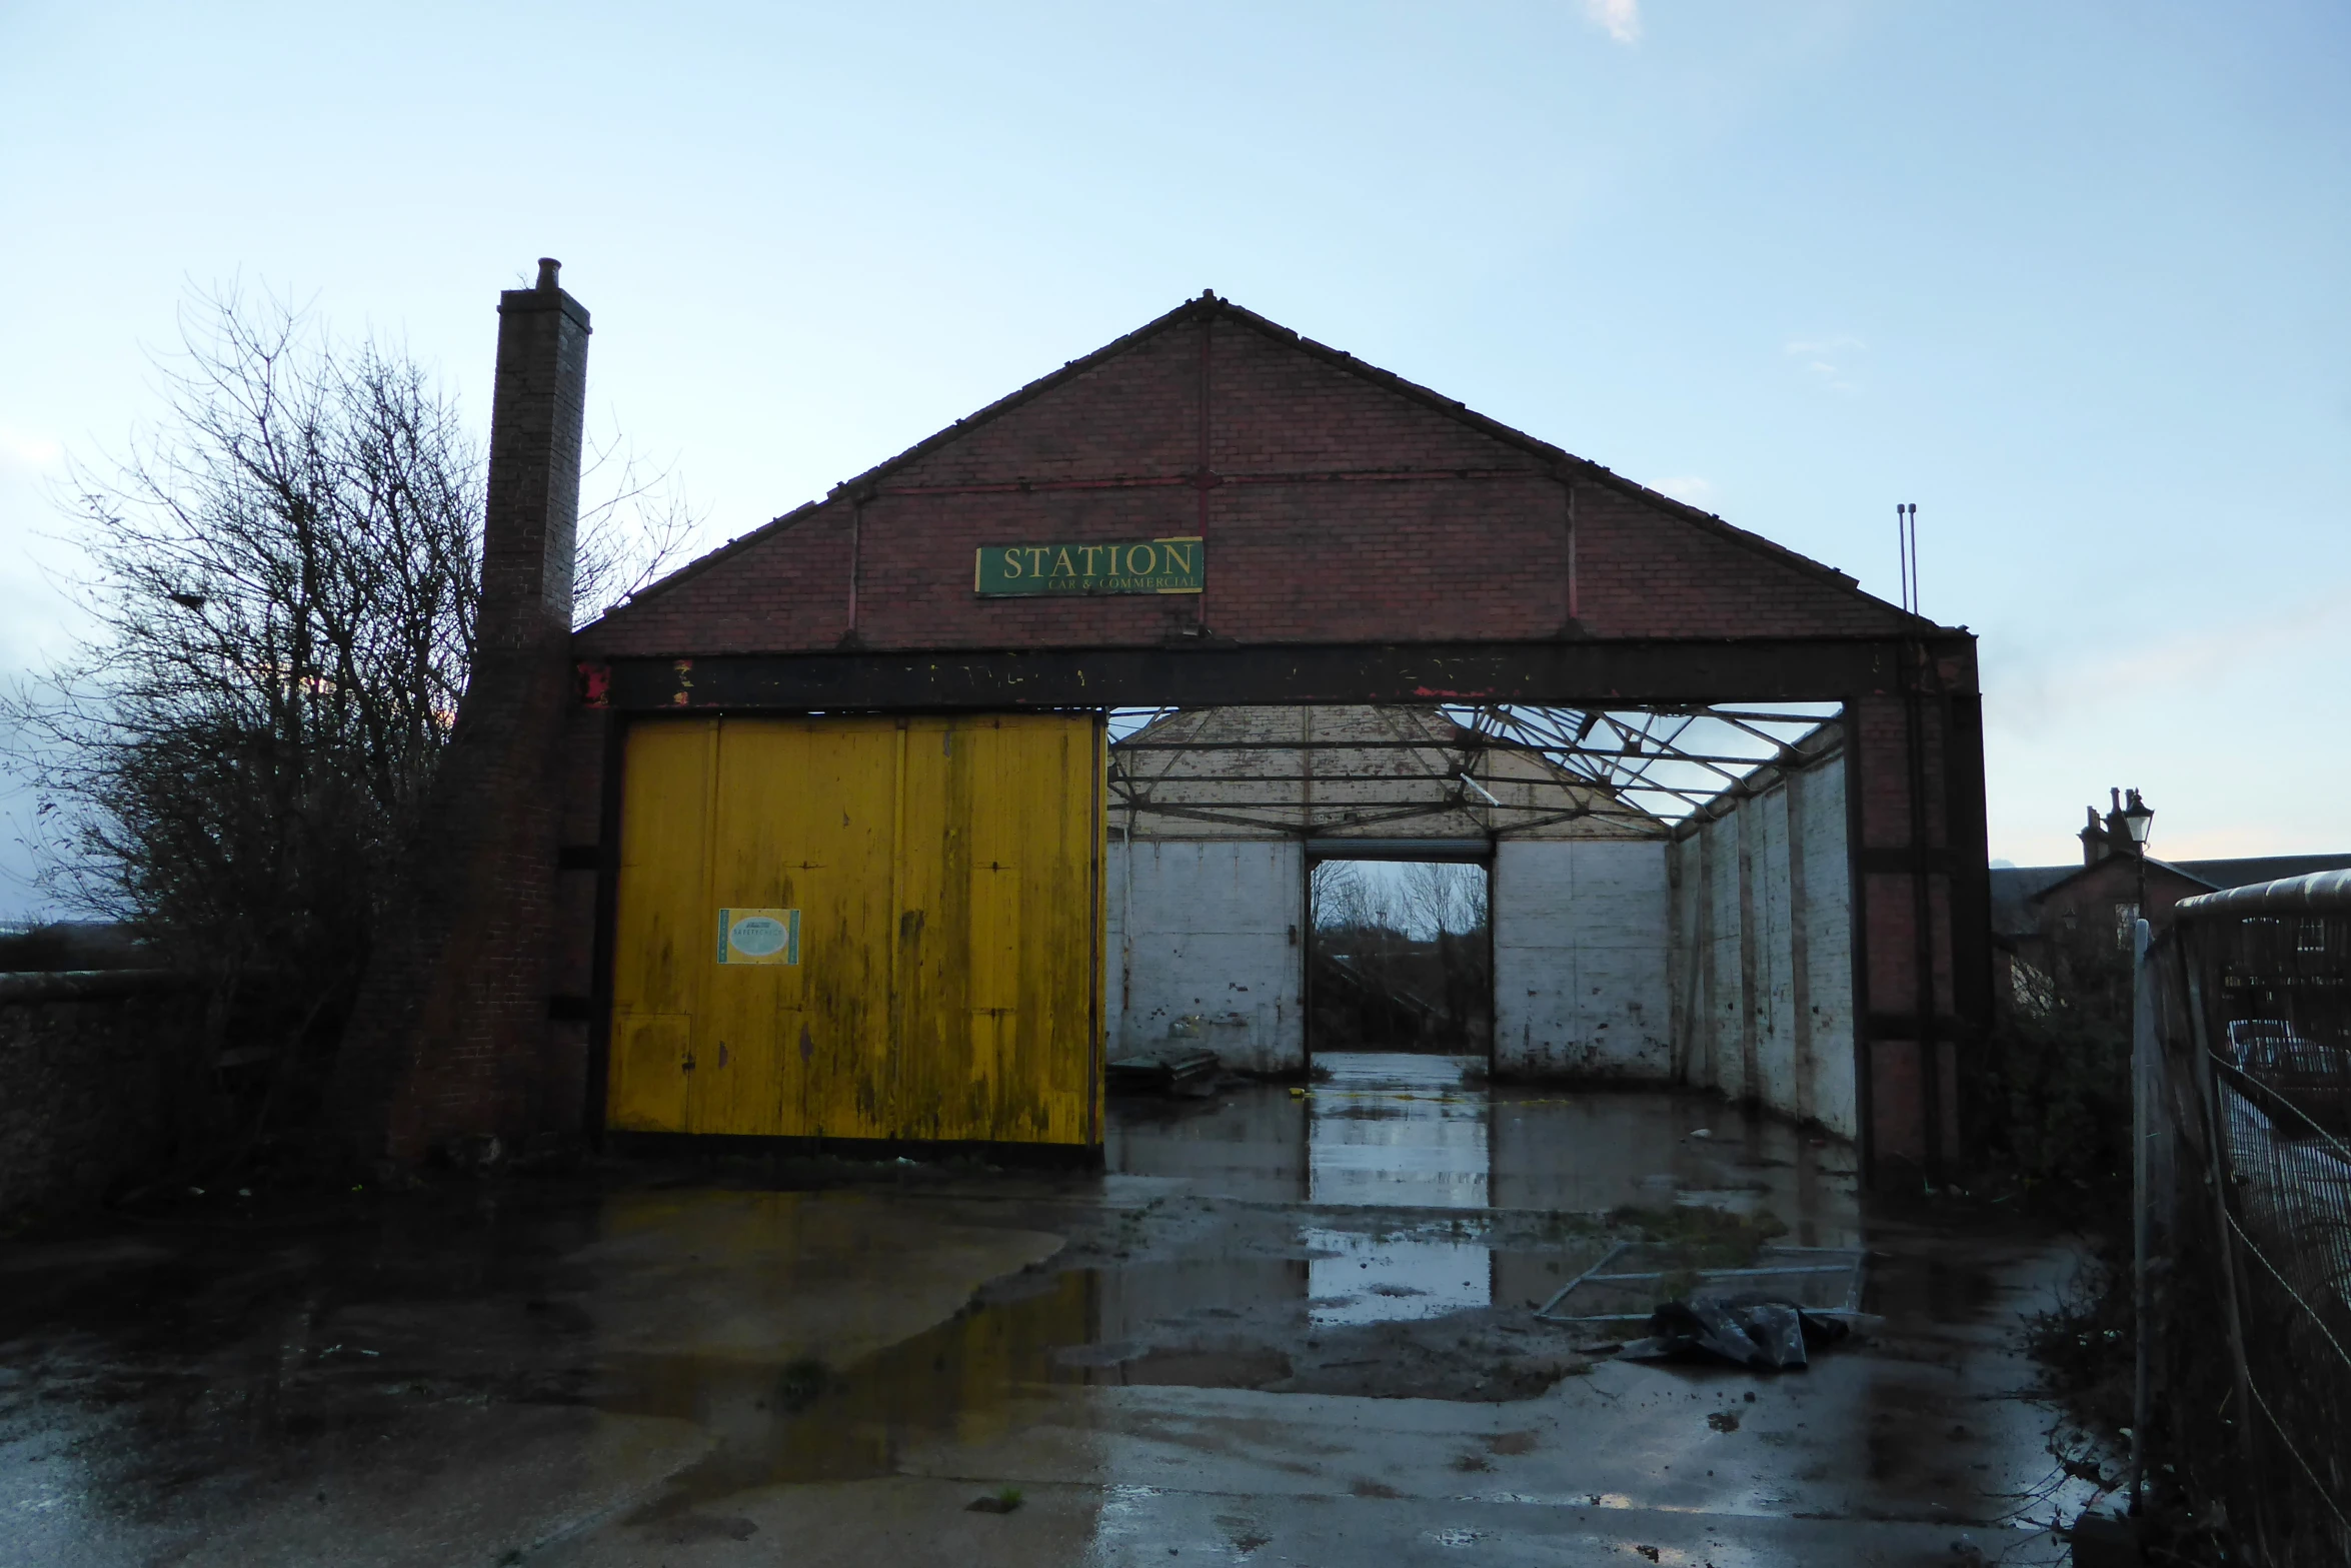
[[475,658],[327,1093],[362,1164],[576,1126],[543,1105],[588,310],[541,259],[498,296]]

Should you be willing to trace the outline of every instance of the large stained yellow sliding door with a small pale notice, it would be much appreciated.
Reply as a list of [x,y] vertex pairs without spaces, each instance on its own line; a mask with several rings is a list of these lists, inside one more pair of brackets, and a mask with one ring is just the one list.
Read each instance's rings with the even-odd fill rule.
[[1100,1143],[1093,715],[628,738],[607,1124]]

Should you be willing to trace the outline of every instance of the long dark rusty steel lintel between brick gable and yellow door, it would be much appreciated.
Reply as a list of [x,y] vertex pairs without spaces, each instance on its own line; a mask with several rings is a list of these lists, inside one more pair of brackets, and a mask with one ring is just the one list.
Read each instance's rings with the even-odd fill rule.
[[[1965,651],[1970,637],[1951,637]],[[1627,639],[933,649],[616,658],[583,672],[625,712],[1213,708],[1234,703],[1531,703],[1596,708],[1843,701],[1895,691],[1900,642]],[[597,679],[609,672],[609,682]]]

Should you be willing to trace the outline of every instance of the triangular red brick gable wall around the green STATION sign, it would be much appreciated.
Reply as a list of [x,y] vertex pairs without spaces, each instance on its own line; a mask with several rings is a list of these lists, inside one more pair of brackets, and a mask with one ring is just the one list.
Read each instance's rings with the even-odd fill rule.
[[[1164,534],[1206,536],[1199,599],[971,592],[983,543]],[[1199,301],[689,567],[578,651],[1886,637],[1902,621],[1822,567]]]

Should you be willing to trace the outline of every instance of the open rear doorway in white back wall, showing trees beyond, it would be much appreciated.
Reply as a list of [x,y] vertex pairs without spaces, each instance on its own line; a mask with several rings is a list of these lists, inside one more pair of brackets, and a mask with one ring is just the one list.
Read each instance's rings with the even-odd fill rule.
[[1488,870],[1324,858],[1307,870],[1307,1053],[1493,1056]]

